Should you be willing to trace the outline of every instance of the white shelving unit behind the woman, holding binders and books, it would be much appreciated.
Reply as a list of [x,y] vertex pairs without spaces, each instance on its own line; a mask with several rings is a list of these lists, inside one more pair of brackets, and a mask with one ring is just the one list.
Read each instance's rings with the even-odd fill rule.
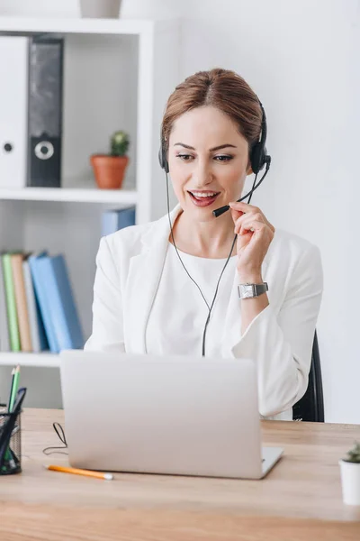
[[[0,249],[65,254],[86,337],[103,210],[133,204],[138,224],[166,212],[157,151],[166,98],[179,82],[179,33],[177,20],[0,17],[0,35],[65,40],[62,188],[0,188]],[[130,166],[123,188],[101,190],[89,157],[108,151],[117,129],[130,133]],[[4,366],[16,363],[38,371],[58,367],[58,356],[0,353],[0,399]]]

